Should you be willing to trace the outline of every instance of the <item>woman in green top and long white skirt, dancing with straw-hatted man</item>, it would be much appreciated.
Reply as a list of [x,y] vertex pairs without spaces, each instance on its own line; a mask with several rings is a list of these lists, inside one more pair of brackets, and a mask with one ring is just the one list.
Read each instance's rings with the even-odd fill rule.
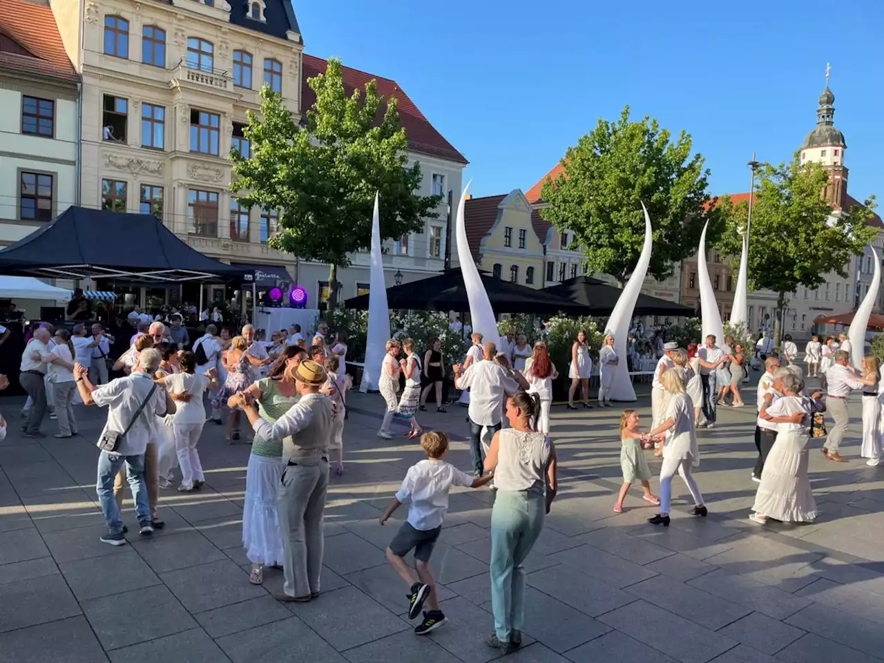
[[[258,412],[268,422],[275,422],[298,401],[293,375],[306,356],[301,347],[286,347],[267,377],[245,390],[255,399]],[[252,562],[248,580],[253,584],[263,583],[265,566],[282,564],[283,545],[277,513],[277,487],[282,470],[282,442],[255,435],[248,457],[246,503],[242,510],[242,545]]]

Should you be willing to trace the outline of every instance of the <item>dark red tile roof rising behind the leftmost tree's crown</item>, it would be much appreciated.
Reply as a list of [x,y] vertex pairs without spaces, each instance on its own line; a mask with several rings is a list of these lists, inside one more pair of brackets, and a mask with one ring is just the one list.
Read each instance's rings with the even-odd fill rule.
[[[3,0],[6,2],[6,0]],[[301,111],[308,109],[316,101],[316,95],[310,88],[307,80],[316,74],[325,72],[326,61],[319,57],[304,54],[303,72],[301,74]],[[344,79],[344,89],[350,95],[355,88],[364,88],[370,80],[377,81],[377,92],[385,97],[394,97],[396,107],[399,110],[401,125],[405,128],[408,136],[408,149],[429,156],[455,161],[459,164],[469,162],[461,155],[453,145],[446,141],[436,127],[430,124],[430,120],[423,117],[415,103],[408,98],[405,91],[399,87],[395,80],[384,79],[374,74],[361,72],[347,66],[341,66],[341,74]]]

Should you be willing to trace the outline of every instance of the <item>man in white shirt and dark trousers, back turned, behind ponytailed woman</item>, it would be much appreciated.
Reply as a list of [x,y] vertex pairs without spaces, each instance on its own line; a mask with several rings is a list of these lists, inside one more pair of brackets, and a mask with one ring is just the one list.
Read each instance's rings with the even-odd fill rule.
[[465,370],[461,370],[460,364],[452,367],[454,385],[458,389],[469,388],[469,453],[475,476],[482,476],[484,472],[481,442],[483,426],[492,431],[500,430],[500,404],[505,396],[512,396],[519,389],[514,378],[492,361],[495,354],[497,347],[493,343],[485,343],[481,361],[471,363]]

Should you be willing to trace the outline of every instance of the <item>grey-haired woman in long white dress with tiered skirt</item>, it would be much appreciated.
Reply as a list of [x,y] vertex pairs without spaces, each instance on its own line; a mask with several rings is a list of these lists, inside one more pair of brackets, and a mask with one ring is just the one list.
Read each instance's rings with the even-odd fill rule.
[[776,423],[776,441],[767,454],[754,513],[749,517],[761,525],[768,517],[781,522],[812,522],[817,517],[807,476],[812,403],[800,395],[804,385],[794,374],[774,380],[773,388],[784,395],[773,400],[773,394],[767,394],[758,416]]

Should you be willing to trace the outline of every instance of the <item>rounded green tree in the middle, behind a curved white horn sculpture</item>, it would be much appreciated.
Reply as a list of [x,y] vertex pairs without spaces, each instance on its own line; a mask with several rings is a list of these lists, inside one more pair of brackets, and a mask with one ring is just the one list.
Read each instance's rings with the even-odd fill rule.
[[[703,156],[691,156],[683,131],[675,141],[656,119],[599,119],[561,160],[564,171],[546,179],[540,216],[558,230],[574,232],[590,273],[605,273],[623,286],[636,268],[644,243],[644,202],[651,215],[654,250],[648,273],[662,280],[674,263],[697,250],[707,218],[709,171]],[[714,237],[718,225],[713,225]]]

